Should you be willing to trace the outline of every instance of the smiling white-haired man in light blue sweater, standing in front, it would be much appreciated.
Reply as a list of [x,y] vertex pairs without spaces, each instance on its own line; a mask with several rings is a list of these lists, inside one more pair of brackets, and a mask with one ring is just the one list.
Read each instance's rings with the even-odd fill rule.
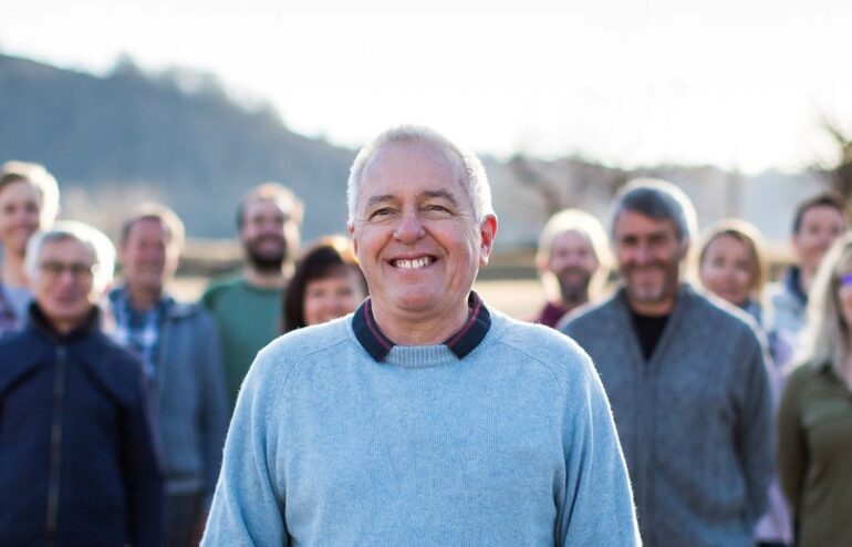
[[389,130],[349,214],[371,297],[258,355],[205,544],[636,545],[591,361],[471,291],[497,233],[479,161]]

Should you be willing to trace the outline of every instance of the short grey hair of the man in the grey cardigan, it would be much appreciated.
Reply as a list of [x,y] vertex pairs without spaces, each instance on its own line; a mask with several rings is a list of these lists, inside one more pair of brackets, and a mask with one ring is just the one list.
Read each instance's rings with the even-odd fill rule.
[[640,213],[654,220],[672,220],[677,241],[689,245],[697,231],[695,207],[684,190],[658,178],[636,178],[615,195],[610,223],[610,235],[615,239],[615,223],[625,210]]

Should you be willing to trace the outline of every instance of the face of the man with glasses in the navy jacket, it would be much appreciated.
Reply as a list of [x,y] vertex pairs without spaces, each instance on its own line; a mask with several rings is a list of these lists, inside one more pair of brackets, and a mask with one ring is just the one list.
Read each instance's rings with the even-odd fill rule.
[[83,323],[95,302],[92,249],[75,239],[46,241],[32,279],[35,301],[56,330]]

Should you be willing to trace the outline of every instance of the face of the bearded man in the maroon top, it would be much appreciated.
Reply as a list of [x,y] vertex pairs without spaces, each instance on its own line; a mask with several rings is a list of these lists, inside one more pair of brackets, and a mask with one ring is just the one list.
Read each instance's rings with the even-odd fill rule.
[[599,266],[592,244],[584,235],[570,230],[553,238],[547,269],[557,277],[564,301],[589,297],[589,282]]

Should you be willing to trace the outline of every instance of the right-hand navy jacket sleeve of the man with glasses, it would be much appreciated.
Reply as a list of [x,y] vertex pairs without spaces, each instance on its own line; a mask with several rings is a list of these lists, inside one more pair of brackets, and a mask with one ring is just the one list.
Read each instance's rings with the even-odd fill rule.
[[128,482],[128,539],[134,547],[159,547],[164,537],[164,481],[147,382],[141,365],[135,391],[123,431]]

